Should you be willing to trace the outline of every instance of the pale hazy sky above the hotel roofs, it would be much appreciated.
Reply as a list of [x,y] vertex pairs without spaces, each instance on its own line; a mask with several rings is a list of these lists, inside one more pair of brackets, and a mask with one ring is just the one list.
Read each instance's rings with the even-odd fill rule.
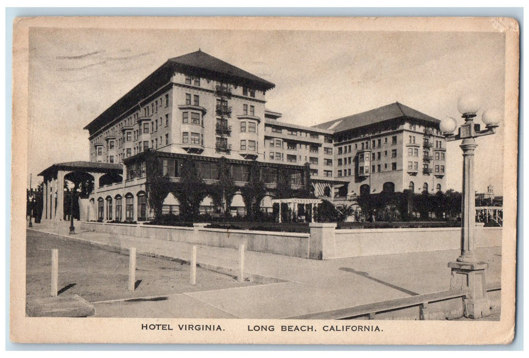
[[[88,160],[83,127],[168,58],[199,48],[275,83],[266,108],[288,123],[313,126],[398,101],[462,124],[464,94],[483,110],[504,109],[501,33],[32,28],[28,187],[30,173],[35,187],[53,163]],[[477,139],[478,192],[492,184],[501,194],[503,140],[501,126]],[[446,145],[446,186],[458,191],[459,145]]]

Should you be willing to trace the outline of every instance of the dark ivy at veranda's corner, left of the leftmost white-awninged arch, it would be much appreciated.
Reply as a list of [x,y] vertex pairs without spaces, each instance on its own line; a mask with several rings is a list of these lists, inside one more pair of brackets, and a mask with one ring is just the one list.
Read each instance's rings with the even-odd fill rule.
[[163,168],[160,158],[149,150],[145,153],[145,190],[149,200],[149,207],[154,212],[154,220],[158,221],[162,216],[163,200],[173,189],[174,185],[169,182],[167,176],[163,176]]

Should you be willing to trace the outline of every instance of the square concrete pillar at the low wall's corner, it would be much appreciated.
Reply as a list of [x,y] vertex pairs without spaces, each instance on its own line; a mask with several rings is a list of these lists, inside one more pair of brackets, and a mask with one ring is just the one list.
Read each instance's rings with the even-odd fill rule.
[[335,222],[311,222],[308,258],[326,259],[336,257]]

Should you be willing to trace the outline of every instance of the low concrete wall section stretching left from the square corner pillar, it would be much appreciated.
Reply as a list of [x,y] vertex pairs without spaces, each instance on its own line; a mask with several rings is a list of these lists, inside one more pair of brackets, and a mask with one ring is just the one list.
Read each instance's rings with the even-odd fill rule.
[[309,234],[295,232],[209,229],[121,223],[82,222],[81,230],[157,238],[217,247],[238,248],[244,243],[250,251],[295,257],[309,257]]

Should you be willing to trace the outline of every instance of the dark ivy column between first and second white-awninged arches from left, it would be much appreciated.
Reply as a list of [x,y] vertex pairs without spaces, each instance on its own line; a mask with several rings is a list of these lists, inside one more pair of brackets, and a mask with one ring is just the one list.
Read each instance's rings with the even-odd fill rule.
[[208,191],[194,162],[188,158],[182,164],[180,182],[175,191],[175,196],[180,203],[180,216],[187,221],[196,221],[200,214],[200,202],[207,196]]

